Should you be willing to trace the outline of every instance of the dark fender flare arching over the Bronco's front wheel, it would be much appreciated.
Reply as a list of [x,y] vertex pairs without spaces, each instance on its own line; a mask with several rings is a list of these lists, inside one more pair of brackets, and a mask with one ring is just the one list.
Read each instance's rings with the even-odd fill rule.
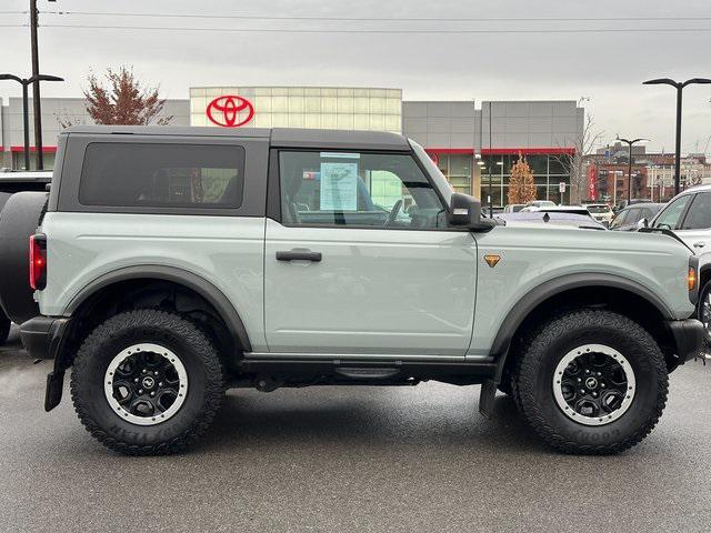
[[503,366],[505,364],[507,356],[509,355],[509,348],[511,346],[513,334],[529,314],[549,298],[571,289],[580,289],[584,286],[605,286],[629,291],[640,298],[643,298],[657,308],[664,319],[672,320],[671,311],[657,294],[641,283],[628,278],[607,273],[582,272],[554,278],[529,291],[513,305],[505,319],[503,319],[490,352],[491,358],[497,361],[497,381],[501,380],[501,373],[503,372]]

